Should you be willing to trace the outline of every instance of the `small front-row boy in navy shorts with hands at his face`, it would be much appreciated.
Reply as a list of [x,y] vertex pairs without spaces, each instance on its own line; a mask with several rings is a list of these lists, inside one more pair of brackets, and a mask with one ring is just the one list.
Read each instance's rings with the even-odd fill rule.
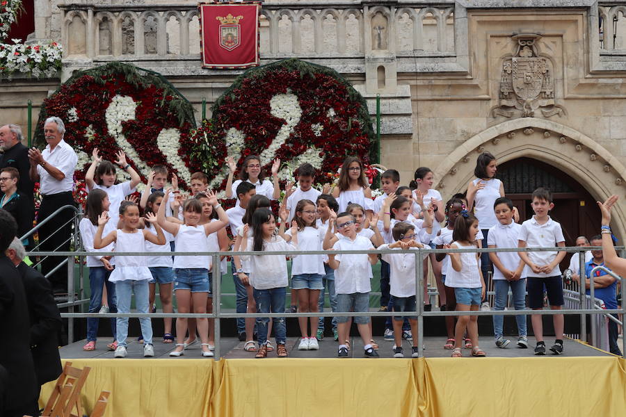
[[[392,229],[394,243],[380,245],[378,249],[398,249],[416,250],[424,247],[417,242],[415,226],[408,222],[397,222]],[[428,256],[428,255],[426,255]],[[390,264],[390,294],[392,296],[393,311],[413,311],[415,312],[415,254],[383,254],[383,261]],[[417,334],[417,316],[408,316],[412,334]],[[394,327],[394,358],[403,358],[402,352],[402,316],[394,316],[392,322]],[[417,337],[412,338],[411,357],[416,358]]]

